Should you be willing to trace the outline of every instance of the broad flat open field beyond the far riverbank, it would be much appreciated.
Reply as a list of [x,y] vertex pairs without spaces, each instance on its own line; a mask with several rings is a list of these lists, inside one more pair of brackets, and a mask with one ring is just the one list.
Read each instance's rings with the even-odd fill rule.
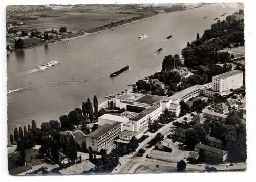
[[[120,12],[128,12],[127,14]],[[71,8],[63,10],[50,10],[44,13],[33,12],[18,14],[19,17],[33,17],[34,20],[17,20],[16,18],[7,18],[7,22],[23,21],[24,28],[60,28],[67,27],[68,30],[90,30],[111,22],[131,19],[141,15],[152,14],[152,12],[140,12],[135,9],[122,9],[121,6],[89,6],[83,8]],[[24,18],[23,18],[24,19]]]

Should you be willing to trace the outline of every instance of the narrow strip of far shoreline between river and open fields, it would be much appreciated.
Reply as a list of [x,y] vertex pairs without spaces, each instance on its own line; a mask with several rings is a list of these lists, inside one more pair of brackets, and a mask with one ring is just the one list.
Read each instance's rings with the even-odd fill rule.
[[[111,28],[107,28],[107,29],[104,29],[104,30],[96,29],[95,32],[91,32],[91,33],[80,32],[80,33],[77,33],[77,34],[68,35],[68,36],[63,37],[63,38],[62,37],[61,38],[57,38],[57,40],[49,40],[49,41],[37,43],[37,44],[34,44],[34,45],[28,45],[27,47],[24,47],[22,49],[16,49],[16,50],[14,50],[14,51],[12,51],[12,52],[10,52],[8,54],[15,53],[15,52],[20,52],[20,51],[27,50],[27,49],[32,49],[32,48],[35,48],[35,47],[46,46],[48,44],[55,44],[55,43],[59,43],[59,42],[67,41],[67,40],[73,40],[73,39],[76,39],[76,38],[80,38],[80,37],[84,37],[84,36],[89,36],[89,35],[105,32],[105,31],[109,31],[109,30],[113,30],[113,29],[117,29],[117,28],[121,28],[121,27],[124,27],[124,26],[129,25],[129,24],[133,24],[133,23],[136,23],[136,22],[140,22],[140,21],[149,19],[149,18],[151,18],[153,16],[156,16],[156,15],[157,14],[154,14],[154,15],[147,16],[145,18],[141,18],[141,19],[134,20],[134,21],[133,20],[131,20],[131,21],[126,20],[126,21],[123,22],[123,24],[120,24],[120,25],[117,25],[117,26],[113,26]],[[129,22],[127,22],[127,21],[129,21]],[[92,28],[92,29],[95,29],[95,28]]]

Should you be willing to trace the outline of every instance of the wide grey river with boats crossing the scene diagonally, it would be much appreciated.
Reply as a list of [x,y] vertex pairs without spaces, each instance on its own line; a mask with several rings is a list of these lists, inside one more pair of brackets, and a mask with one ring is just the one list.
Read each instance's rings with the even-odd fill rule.
[[[37,126],[68,114],[88,97],[103,102],[104,96],[120,93],[138,79],[161,69],[164,56],[180,54],[187,41],[209,29],[213,20],[233,8],[205,6],[164,13],[121,28],[12,53],[7,56],[8,135],[34,119]],[[208,18],[203,19],[203,17]],[[147,34],[148,39],[138,40]],[[173,35],[165,41],[165,37]],[[163,51],[154,55],[155,51]],[[46,70],[35,67],[48,60],[61,64]],[[129,65],[131,69],[114,79],[109,75]]]

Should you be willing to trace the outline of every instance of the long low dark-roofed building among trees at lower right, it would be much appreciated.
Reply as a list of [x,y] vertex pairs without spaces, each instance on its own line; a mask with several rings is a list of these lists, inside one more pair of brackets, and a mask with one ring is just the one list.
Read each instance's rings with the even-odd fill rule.
[[222,162],[227,159],[227,154],[228,154],[228,152],[225,150],[211,147],[202,143],[196,144],[194,150],[196,152],[203,151],[207,158],[218,159],[218,160],[221,160]]

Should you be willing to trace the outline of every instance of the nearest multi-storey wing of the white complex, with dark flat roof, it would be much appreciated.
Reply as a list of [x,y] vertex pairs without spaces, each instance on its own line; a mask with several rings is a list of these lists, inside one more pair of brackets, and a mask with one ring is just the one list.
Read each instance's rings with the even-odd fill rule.
[[100,152],[101,149],[110,147],[114,140],[121,133],[121,122],[105,124],[86,136],[86,148],[92,148],[92,151]]

